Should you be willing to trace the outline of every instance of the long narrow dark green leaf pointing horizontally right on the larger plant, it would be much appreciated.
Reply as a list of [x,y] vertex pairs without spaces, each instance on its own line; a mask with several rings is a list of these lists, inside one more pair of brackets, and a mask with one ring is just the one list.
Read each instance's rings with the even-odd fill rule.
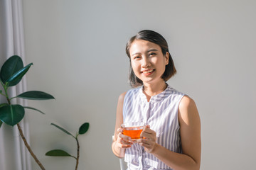
[[29,100],[49,100],[49,99],[55,99],[50,94],[46,94],[43,91],[26,91],[23,94],[19,94],[17,96],[18,98],[24,98]]

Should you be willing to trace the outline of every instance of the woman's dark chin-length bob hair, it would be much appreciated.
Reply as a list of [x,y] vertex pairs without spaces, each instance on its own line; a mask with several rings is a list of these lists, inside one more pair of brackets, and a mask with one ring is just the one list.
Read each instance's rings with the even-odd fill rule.
[[134,35],[132,38],[130,38],[126,45],[126,53],[127,53],[127,56],[129,57],[129,61],[130,61],[129,81],[130,81],[130,84],[132,87],[137,87],[137,86],[143,85],[142,80],[139,79],[134,74],[134,71],[132,70],[131,56],[130,56],[129,50],[130,50],[130,47],[132,45],[132,42],[134,42],[134,40],[146,40],[149,42],[153,42],[156,45],[159,45],[161,47],[161,51],[163,52],[163,55],[166,55],[166,52],[169,53],[169,63],[166,65],[164,74],[161,77],[162,79],[164,79],[164,81],[169,80],[171,77],[174,76],[174,74],[176,74],[176,69],[174,67],[174,61],[171,58],[171,54],[168,49],[168,43],[166,42],[164,37],[162,35],[160,35],[159,33],[156,33],[153,30],[141,30],[136,35]]

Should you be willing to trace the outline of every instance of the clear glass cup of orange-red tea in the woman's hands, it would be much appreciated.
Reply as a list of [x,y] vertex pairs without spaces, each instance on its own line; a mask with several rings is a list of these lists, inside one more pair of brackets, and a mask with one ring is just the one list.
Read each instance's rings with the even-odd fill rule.
[[142,122],[123,123],[121,128],[123,129],[123,134],[131,137],[131,141],[134,141],[140,138],[145,125],[146,123]]

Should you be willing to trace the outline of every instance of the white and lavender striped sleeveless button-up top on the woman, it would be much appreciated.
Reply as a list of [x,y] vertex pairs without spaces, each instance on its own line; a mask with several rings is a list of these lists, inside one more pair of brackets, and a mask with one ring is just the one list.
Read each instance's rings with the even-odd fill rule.
[[[123,122],[144,122],[156,132],[156,142],[173,152],[181,153],[180,127],[178,124],[178,105],[182,94],[171,86],[146,100],[142,86],[127,91],[124,97]],[[128,169],[171,169],[153,154],[144,151],[144,148],[134,143],[125,150],[124,161]]]

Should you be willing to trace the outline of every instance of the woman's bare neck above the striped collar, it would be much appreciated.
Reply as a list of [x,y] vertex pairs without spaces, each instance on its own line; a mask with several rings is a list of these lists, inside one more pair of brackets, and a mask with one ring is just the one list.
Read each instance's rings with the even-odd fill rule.
[[167,84],[164,80],[156,84],[143,84],[143,93],[146,95],[147,101],[149,101],[151,96],[160,94],[166,89],[166,87]]

